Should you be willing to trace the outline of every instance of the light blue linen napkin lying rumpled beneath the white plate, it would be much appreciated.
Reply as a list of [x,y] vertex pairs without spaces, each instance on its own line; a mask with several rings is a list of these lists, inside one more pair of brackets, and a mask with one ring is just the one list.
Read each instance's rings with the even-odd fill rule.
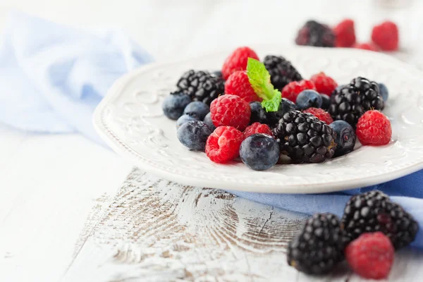
[[[102,143],[92,127],[95,106],[123,73],[152,61],[122,32],[89,32],[12,13],[0,45],[0,121],[37,133],[79,132]],[[423,171],[368,188],[320,195],[230,191],[303,214],[341,216],[350,195],[379,189],[419,221],[412,245],[423,248]]]

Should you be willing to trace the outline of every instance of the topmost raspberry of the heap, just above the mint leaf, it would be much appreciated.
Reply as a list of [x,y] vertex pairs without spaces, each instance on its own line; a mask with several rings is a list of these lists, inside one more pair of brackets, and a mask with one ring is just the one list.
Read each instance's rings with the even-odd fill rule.
[[222,76],[224,80],[229,78],[234,71],[245,71],[247,69],[248,58],[259,59],[256,52],[250,47],[239,47],[226,58],[222,67]]

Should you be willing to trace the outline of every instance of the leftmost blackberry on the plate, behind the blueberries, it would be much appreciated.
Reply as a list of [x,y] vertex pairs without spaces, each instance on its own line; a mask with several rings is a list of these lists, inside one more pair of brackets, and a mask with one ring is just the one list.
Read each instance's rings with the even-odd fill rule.
[[225,92],[223,80],[207,71],[187,71],[176,83],[178,91],[190,95],[192,101],[210,105],[214,99]]

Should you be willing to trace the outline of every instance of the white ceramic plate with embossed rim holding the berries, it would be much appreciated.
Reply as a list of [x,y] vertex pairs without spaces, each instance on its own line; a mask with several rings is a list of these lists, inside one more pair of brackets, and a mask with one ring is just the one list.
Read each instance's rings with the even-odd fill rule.
[[175,121],[161,102],[183,72],[219,70],[231,50],[177,63],[152,63],[120,78],[94,113],[99,135],[118,154],[145,171],[185,185],[277,193],[316,193],[382,183],[423,168],[423,73],[371,51],[309,47],[256,47],[259,57],[280,54],[305,78],[319,71],[340,83],[359,75],[390,90],[384,113],[393,140],[359,147],[324,164],[276,165],[252,171],[242,163],[214,164],[190,152],[176,138]]

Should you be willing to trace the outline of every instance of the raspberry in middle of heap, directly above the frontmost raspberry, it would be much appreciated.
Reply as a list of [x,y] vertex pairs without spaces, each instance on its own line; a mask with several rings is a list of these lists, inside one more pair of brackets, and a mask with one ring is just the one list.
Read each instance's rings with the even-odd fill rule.
[[219,96],[210,105],[212,121],[216,127],[221,125],[233,126],[244,130],[250,123],[250,104],[236,95],[225,94]]

